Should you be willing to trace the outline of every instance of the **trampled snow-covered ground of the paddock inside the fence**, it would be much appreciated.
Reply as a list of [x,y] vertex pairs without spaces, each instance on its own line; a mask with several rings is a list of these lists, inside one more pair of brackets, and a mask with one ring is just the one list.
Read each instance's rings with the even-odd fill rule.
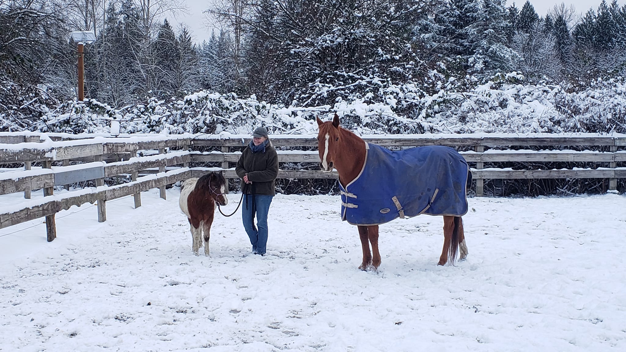
[[0,230],[0,350],[626,350],[623,195],[469,199],[456,266],[436,266],[441,217],[398,219],[378,272],[339,197],[275,197],[265,257],[217,214],[196,257],[167,196],[108,202],[105,223],[73,207],[51,243],[43,219]]

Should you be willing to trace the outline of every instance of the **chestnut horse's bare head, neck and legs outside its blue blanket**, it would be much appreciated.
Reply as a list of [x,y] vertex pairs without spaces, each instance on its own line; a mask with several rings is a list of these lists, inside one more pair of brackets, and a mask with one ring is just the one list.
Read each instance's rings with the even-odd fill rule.
[[[367,155],[366,143],[354,133],[339,127],[339,116],[337,115],[328,122],[322,122],[317,118],[317,125],[319,125],[317,147],[321,160],[320,167],[323,172],[331,172],[335,168],[339,173],[339,182],[346,189],[347,185],[359,177],[364,168]],[[469,172],[468,181],[471,182],[471,173]],[[357,226],[363,250],[363,261],[359,269],[367,270],[369,267],[377,269],[381,265],[381,254],[378,251],[378,225]],[[439,257],[438,265],[443,266],[448,260],[454,262],[459,247],[459,259],[462,260],[467,256],[463,220],[460,216],[443,216],[443,236],[443,251]],[[368,240],[372,245],[373,257],[369,243],[367,243]]]

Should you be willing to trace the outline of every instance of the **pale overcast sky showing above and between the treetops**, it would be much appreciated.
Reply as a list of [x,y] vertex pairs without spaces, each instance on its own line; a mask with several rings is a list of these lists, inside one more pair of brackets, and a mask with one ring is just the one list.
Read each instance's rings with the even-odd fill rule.
[[[185,0],[187,2],[188,13],[180,14],[175,19],[175,22],[185,23],[188,28],[192,30],[193,39],[195,41],[202,41],[203,39],[208,39],[211,36],[211,29],[207,27],[207,23],[205,21],[205,16],[202,11],[208,8],[209,4],[212,0]],[[530,3],[535,6],[535,11],[540,16],[545,15],[548,12],[548,9],[551,9],[555,4],[565,3],[566,5],[573,4],[578,12],[586,13],[588,9],[593,8],[597,9],[598,5],[602,0],[531,0]],[[607,0],[607,3],[610,3],[612,0]],[[526,0],[517,0],[515,4],[518,8],[524,5]],[[623,5],[626,0],[617,0],[617,3]],[[513,4],[513,0],[507,0],[506,5]],[[174,22],[174,21],[173,21]]]

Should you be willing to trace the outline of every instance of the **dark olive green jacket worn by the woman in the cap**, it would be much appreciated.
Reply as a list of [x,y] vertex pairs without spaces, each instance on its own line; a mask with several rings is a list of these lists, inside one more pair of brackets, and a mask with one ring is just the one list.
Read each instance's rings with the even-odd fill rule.
[[[278,177],[278,155],[276,150],[268,143],[265,153],[252,153],[250,147],[246,147],[241,153],[237,168],[237,176],[242,179],[242,192],[245,194],[276,194],[276,177]],[[244,176],[248,174],[250,184],[244,184]]]

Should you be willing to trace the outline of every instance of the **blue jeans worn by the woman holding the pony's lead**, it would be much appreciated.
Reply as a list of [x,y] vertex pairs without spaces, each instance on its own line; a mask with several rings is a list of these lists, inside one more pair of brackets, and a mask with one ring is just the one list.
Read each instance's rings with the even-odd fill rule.
[[[242,202],[241,216],[244,229],[250,237],[252,252],[265,254],[267,250],[267,213],[270,210],[273,195],[245,194]],[[254,200],[254,204],[253,204]],[[257,229],[254,229],[254,214],[257,214]]]

